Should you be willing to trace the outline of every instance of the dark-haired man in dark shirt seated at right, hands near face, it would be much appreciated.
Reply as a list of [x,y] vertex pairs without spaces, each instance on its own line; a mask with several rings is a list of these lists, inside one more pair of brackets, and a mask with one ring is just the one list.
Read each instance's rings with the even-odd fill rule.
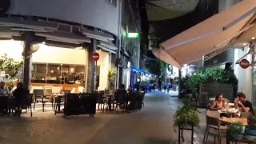
[[251,102],[246,100],[246,94],[243,94],[242,92],[238,92],[238,98],[234,100],[234,106],[240,107],[242,112],[251,112],[254,114],[254,109]]

